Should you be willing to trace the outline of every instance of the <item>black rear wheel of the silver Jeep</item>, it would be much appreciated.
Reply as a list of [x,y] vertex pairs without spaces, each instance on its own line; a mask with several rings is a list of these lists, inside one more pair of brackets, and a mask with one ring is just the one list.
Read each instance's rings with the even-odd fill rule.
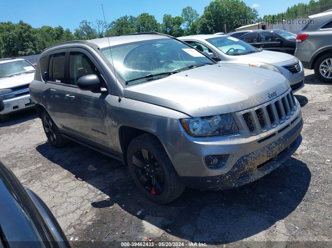
[[60,148],[67,144],[68,140],[62,137],[59,128],[55,125],[46,110],[44,110],[41,114],[41,121],[47,140],[52,144],[52,146]]

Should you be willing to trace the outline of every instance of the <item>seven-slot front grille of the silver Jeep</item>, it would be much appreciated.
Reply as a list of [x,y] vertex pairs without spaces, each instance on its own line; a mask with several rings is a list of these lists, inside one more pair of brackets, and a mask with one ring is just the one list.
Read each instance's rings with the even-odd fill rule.
[[257,135],[285,123],[294,115],[296,102],[292,91],[273,102],[242,113],[242,118],[251,135]]

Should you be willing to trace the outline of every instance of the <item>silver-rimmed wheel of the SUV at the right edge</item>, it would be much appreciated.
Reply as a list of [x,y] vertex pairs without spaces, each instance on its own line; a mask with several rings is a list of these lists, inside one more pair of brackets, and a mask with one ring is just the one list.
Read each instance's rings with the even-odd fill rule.
[[316,77],[325,83],[332,83],[332,53],[322,55],[314,65]]

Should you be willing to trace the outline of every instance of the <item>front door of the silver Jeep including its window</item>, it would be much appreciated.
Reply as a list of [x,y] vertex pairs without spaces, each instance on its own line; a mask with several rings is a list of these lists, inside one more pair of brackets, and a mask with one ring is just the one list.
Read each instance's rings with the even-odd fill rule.
[[67,57],[68,85],[64,89],[66,111],[71,122],[69,131],[86,143],[106,150],[113,149],[106,109],[109,89],[94,93],[77,87],[77,80],[90,74],[96,74],[101,87],[108,88],[106,77],[93,56],[85,49],[70,48]]

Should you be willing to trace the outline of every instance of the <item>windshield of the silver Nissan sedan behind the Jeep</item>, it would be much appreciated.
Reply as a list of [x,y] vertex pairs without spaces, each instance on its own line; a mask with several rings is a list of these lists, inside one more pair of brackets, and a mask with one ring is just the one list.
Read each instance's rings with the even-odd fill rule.
[[227,55],[243,55],[260,52],[260,50],[254,48],[248,43],[234,37],[216,37],[207,39],[207,41]]

